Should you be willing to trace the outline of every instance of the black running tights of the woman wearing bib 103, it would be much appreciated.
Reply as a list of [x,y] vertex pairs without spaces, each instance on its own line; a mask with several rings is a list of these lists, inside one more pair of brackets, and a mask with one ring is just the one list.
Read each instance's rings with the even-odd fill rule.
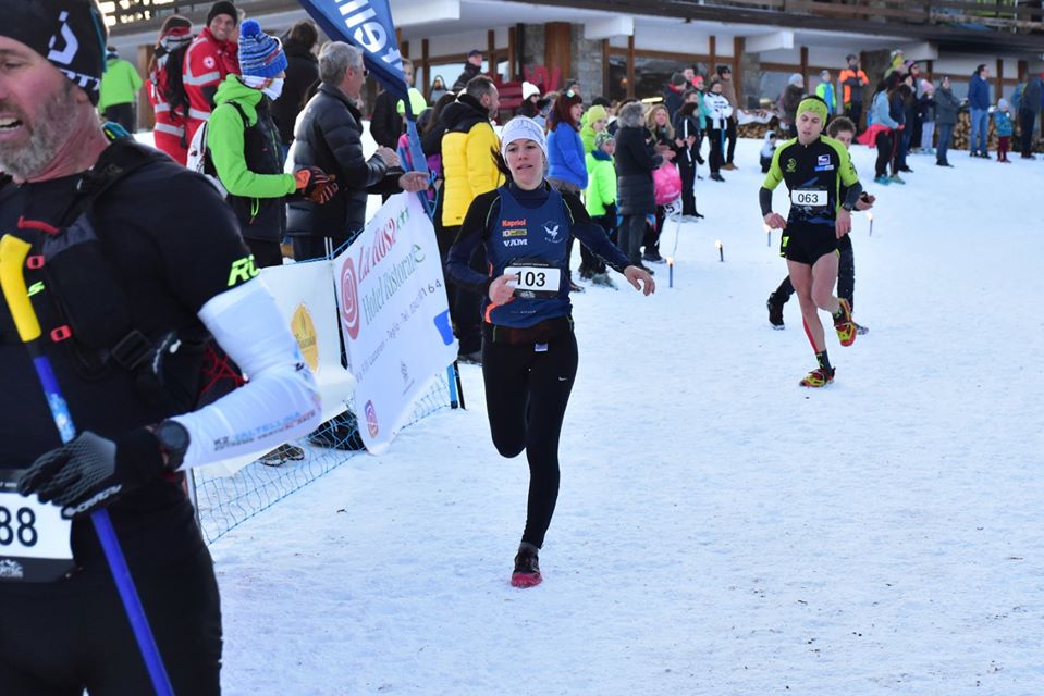
[[558,435],[576,376],[576,337],[568,332],[546,350],[536,348],[494,344],[487,332],[482,377],[496,451],[517,457],[526,450],[529,502],[521,540],[540,548],[558,499]]

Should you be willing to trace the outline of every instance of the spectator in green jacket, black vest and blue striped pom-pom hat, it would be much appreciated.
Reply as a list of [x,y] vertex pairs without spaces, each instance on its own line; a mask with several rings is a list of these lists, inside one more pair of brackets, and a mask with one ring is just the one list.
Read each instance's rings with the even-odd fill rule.
[[285,198],[302,194],[324,203],[337,190],[333,177],[315,166],[283,173],[272,100],[279,99],[286,55],[279,39],[247,20],[239,29],[242,75],[230,74],[214,95],[207,123],[207,156],[239,221],[239,232],[257,268],[283,262],[280,241],[286,232]]

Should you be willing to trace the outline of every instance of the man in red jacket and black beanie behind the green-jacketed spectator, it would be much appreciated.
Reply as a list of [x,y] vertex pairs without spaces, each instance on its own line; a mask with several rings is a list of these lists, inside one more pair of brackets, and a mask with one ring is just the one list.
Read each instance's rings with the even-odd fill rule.
[[239,14],[228,0],[219,0],[207,14],[207,26],[185,53],[183,83],[188,95],[188,121],[185,141],[192,142],[196,130],[210,116],[218,85],[229,73],[239,73],[239,47],[233,40]]

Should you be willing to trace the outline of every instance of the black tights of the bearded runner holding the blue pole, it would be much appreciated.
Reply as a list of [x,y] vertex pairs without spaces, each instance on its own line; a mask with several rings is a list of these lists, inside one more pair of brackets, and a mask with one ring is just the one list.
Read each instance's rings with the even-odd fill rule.
[[[153,693],[108,570],[82,572],[64,581],[64,592],[0,586],[3,696]],[[169,568],[134,573],[134,581],[174,693],[217,696],[221,609],[210,554],[200,549]]]

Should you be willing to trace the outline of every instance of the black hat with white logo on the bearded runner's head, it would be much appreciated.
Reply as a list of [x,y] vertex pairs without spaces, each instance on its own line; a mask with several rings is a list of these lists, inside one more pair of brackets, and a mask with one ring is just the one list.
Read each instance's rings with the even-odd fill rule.
[[25,44],[98,103],[106,22],[96,0],[0,0],[0,36]]

